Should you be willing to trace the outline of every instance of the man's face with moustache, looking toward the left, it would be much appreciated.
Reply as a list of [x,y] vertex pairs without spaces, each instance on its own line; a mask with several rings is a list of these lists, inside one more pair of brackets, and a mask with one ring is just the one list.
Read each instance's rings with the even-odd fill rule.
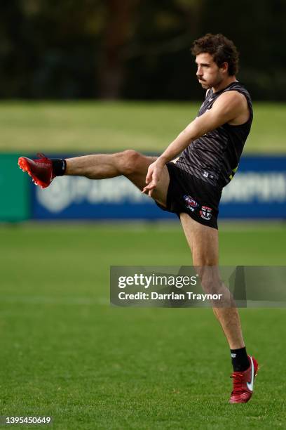
[[212,88],[212,86],[215,87],[219,85],[224,77],[226,77],[227,72],[225,67],[219,67],[217,63],[214,63],[209,53],[198,54],[198,56],[196,56],[196,64],[198,65],[196,77],[203,89],[209,89]]

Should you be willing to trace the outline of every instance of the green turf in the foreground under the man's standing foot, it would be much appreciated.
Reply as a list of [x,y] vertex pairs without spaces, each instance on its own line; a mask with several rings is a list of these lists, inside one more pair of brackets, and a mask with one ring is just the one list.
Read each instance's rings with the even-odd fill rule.
[[[226,225],[220,240],[222,264],[285,264],[285,226]],[[284,309],[241,311],[261,370],[251,402],[229,405],[210,309],[109,306],[111,264],[191,263],[179,226],[2,226],[0,250],[0,415],[68,430],[285,426]]]

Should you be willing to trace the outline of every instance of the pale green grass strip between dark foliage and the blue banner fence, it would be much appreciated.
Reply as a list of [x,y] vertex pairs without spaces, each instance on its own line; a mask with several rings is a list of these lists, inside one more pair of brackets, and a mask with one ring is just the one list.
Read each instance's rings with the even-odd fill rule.
[[[0,151],[160,152],[197,115],[198,103],[2,102]],[[254,103],[245,152],[286,152],[285,104]]]

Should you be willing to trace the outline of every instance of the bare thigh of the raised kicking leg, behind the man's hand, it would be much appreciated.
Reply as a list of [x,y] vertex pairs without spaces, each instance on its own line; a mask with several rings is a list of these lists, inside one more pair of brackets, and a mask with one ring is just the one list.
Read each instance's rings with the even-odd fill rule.
[[[146,157],[144,155],[139,155],[139,158],[136,163],[135,172],[132,174],[126,175],[132,183],[134,183],[139,190],[143,190],[146,185],[146,176],[147,171],[154,161],[156,161],[157,157]],[[156,189],[152,193],[152,198],[156,200],[156,202],[162,204],[164,207],[167,205],[167,193],[170,183],[170,176],[168,172],[168,167],[164,166],[160,181]]]

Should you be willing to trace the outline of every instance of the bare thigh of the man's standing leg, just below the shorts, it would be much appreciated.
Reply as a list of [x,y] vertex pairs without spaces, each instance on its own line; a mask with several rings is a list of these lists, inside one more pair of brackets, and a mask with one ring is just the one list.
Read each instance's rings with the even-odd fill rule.
[[193,266],[217,266],[219,235],[216,228],[203,226],[188,214],[180,214],[186,240],[191,248]]

